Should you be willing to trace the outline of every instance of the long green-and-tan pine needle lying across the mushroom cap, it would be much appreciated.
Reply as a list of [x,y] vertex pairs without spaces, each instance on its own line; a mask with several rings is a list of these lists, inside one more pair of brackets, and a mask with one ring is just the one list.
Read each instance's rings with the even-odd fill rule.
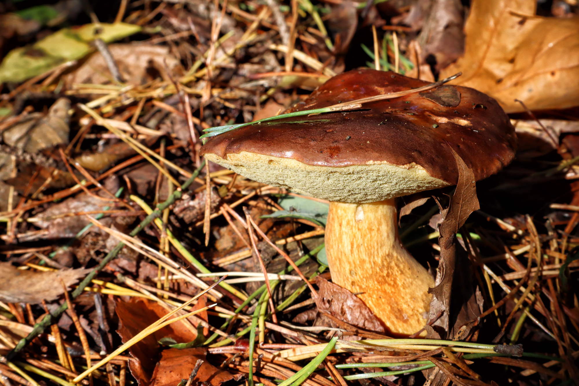
[[402,96],[405,96],[408,94],[413,94],[413,93],[417,93],[417,92],[430,90],[430,89],[438,87],[440,85],[444,85],[444,83],[450,82],[453,79],[460,77],[460,75],[462,75],[462,72],[459,72],[458,74],[452,75],[452,77],[448,77],[448,78],[442,79],[441,81],[430,83],[430,85],[422,86],[422,87],[419,87],[416,89],[404,90],[404,91],[400,91],[400,92],[396,92],[396,93],[390,93],[390,94],[375,95],[375,96],[371,96],[371,97],[351,100],[349,102],[334,104],[334,105],[331,105],[328,107],[314,108],[313,110],[288,112],[288,114],[270,116],[269,118],[260,119],[259,121],[255,121],[255,122],[237,123],[237,125],[214,126],[212,128],[204,129],[203,131],[206,132],[207,134],[203,134],[200,138],[203,139],[203,138],[208,138],[208,137],[215,137],[215,136],[218,136],[219,134],[229,132],[230,130],[233,130],[233,129],[243,128],[243,126],[259,125],[262,122],[274,121],[276,119],[291,118],[292,116],[324,114],[326,112],[345,111],[345,110],[351,110],[354,108],[360,108],[362,103],[375,102],[375,101],[379,101],[379,100],[383,100],[383,99],[398,98],[398,97],[402,97]]

